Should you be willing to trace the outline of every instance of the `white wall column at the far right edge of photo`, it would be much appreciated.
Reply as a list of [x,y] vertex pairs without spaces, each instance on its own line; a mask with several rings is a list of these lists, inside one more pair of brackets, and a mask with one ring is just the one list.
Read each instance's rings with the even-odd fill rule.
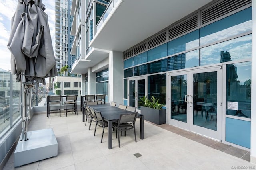
[[251,95],[251,155],[250,162],[256,164],[256,1],[252,1],[252,95]]

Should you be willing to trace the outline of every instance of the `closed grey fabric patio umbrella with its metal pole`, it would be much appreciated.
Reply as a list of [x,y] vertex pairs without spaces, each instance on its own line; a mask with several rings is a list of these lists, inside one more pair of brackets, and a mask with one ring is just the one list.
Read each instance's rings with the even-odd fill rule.
[[45,84],[46,77],[57,76],[48,16],[44,10],[41,0],[18,0],[16,12],[11,21],[12,29],[7,45],[12,53],[11,72],[16,74],[16,80],[20,81],[24,88],[22,111],[22,123],[24,122],[22,140],[24,141],[28,140],[26,133],[30,119],[26,102],[30,93],[31,109],[34,81]]

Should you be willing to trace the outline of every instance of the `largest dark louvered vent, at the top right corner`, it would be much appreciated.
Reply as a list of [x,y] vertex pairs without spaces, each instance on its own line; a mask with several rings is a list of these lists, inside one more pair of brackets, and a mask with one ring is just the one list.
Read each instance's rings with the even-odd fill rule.
[[241,8],[242,6],[250,4],[252,3],[252,0],[224,0],[217,3],[218,4],[213,4],[210,8],[201,11],[202,25]]

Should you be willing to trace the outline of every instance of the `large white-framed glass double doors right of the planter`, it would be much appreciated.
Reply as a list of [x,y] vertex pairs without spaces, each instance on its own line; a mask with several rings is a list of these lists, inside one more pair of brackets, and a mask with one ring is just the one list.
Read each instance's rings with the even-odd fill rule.
[[168,124],[221,139],[222,69],[168,74]]

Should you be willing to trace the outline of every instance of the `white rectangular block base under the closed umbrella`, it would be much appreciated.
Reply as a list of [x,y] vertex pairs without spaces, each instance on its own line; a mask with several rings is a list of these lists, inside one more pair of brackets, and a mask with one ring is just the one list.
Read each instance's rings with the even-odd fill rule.
[[58,155],[58,142],[52,128],[29,131],[27,137],[27,141],[20,141],[20,135],[14,152],[14,167]]

